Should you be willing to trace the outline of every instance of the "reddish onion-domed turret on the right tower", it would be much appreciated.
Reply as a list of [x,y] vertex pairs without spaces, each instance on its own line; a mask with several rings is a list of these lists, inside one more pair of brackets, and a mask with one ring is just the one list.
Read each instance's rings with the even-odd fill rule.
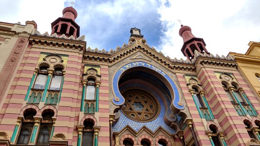
[[194,52],[197,50],[201,54],[209,54],[206,49],[206,44],[203,38],[195,37],[191,33],[191,28],[189,26],[180,25],[179,35],[183,38],[183,45],[181,48],[181,52],[184,56],[186,56],[189,60],[194,58]]

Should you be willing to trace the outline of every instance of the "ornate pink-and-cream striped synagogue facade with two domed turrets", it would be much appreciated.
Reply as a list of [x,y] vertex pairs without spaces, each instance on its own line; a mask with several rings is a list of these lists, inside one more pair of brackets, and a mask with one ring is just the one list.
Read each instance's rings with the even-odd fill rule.
[[260,146],[259,97],[232,55],[210,54],[188,26],[186,60],[157,52],[137,28],[115,50],[92,50],[77,11],[62,14],[50,35],[34,27],[16,41],[1,146]]

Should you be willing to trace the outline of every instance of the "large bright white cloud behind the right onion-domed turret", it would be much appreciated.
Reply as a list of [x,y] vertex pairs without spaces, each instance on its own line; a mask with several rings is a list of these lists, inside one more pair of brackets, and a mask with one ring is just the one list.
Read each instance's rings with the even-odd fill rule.
[[179,36],[178,18],[183,25],[191,27],[194,36],[204,39],[213,55],[245,53],[249,40],[260,41],[260,24],[251,24],[238,16],[248,6],[246,0],[169,0],[170,7],[165,6],[165,2],[161,0],[158,9],[164,27],[158,48],[172,58],[184,58],[180,52],[183,41]]

